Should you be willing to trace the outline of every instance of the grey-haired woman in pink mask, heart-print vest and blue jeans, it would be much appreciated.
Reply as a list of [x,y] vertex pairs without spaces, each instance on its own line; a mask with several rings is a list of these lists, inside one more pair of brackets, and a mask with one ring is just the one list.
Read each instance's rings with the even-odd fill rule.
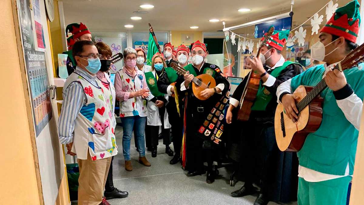
[[115,91],[120,99],[120,118],[123,123],[123,154],[125,169],[132,170],[130,159],[130,139],[133,129],[138,138],[139,163],[150,166],[145,157],[145,121],[147,116],[146,100],[149,90],[143,71],[137,65],[137,51],[131,47],[124,49],[124,67],[116,72]]

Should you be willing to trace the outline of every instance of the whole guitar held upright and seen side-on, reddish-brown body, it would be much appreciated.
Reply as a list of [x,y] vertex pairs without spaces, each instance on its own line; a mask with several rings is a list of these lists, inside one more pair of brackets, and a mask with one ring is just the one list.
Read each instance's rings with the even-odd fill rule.
[[[259,58],[261,49],[263,46],[268,46],[267,42],[271,40],[272,34],[274,31],[274,27],[270,27],[269,31],[265,35],[257,53],[257,58]],[[240,121],[248,121],[251,108],[254,104],[255,98],[258,93],[259,89],[259,83],[260,83],[260,75],[254,73],[253,71],[250,71],[250,76],[248,80],[246,81],[246,85],[244,87],[243,95],[241,96],[240,100],[240,108],[237,115],[237,120]]]

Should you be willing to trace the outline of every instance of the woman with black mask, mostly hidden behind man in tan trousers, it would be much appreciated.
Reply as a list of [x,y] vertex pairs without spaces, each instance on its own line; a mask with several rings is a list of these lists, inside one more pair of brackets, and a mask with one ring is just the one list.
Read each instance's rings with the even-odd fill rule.
[[[107,72],[110,70],[111,63],[111,56],[112,52],[110,47],[103,42],[96,43],[97,51],[99,52],[102,57],[100,58],[101,67],[100,70],[96,73],[96,77],[101,81],[102,85],[100,85],[104,90],[105,97],[108,98],[108,105],[111,109],[111,116],[112,116],[112,125],[111,127],[115,130],[116,128],[116,120],[115,120],[115,88],[114,85],[111,83],[109,75]],[[128,196],[127,192],[120,191],[119,189],[114,187],[114,183],[112,181],[112,161],[114,160],[114,156],[111,158],[110,168],[106,179],[105,185],[105,192],[104,196],[107,200],[112,198],[124,198]]]

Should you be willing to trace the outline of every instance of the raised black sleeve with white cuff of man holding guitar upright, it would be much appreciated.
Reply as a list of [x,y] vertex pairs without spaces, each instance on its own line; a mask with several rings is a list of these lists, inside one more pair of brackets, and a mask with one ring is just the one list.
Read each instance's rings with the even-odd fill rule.
[[287,81],[302,72],[303,68],[301,65],[291,64],[287,66],[276,78],[269,76],[268,80],[264,83],[264,86],[269,92],[276,93],[278,86],[282,84],[282,82]]

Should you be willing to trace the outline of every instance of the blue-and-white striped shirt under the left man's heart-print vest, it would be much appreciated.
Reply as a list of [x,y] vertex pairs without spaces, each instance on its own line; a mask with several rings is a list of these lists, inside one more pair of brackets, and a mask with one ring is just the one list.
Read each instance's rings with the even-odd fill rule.
[[[75,73],[82,76],[92,85],[99,87],[96,76],[91,76],[87,71],[76,67]],[[58,119],[59,141],[62,144],[73,142],[75,120],[83,105],[86,104],[86,94],[79,82],[72,82],[67,88],[63,88],[63,103]]]

